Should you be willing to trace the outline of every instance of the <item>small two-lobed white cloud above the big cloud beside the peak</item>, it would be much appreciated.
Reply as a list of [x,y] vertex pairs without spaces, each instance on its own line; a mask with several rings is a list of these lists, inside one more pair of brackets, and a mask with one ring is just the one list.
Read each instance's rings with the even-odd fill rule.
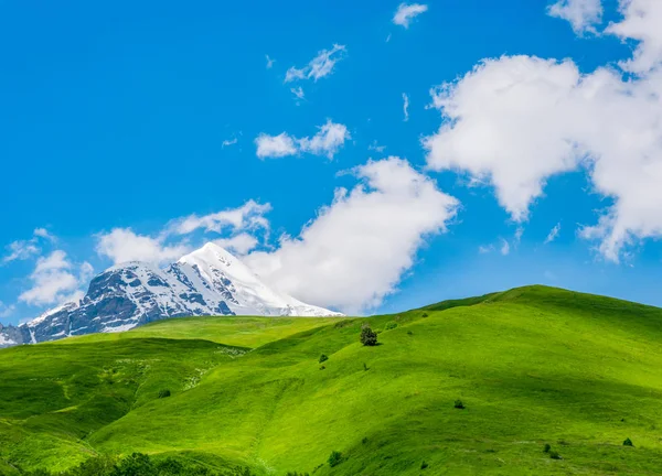
[[329,159],[333,159],[340,148],[344,145],[345,140],[349,139],[351,139],[351,136],[346,126],[328,119],[327,123],[319,127],[319,131],[312,138],[297,139],[287,132],[279,136],[260,133],[255,139],[255,143],[259,159],[282,158],[296,155],[300,152],[327,155]]

